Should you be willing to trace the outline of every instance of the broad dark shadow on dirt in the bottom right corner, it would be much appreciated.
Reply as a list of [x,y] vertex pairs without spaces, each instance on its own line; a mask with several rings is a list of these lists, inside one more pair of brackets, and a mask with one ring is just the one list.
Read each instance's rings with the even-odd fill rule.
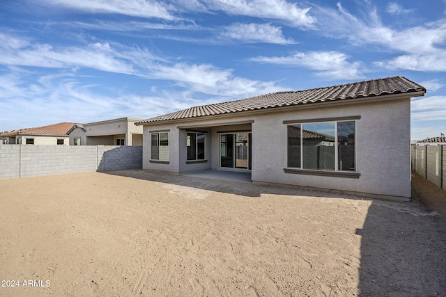
[[446,296],[446,216],[426,203],[436,192],[430,186],[415,176],[410,202],[371,203],[357,230],[359,296]]

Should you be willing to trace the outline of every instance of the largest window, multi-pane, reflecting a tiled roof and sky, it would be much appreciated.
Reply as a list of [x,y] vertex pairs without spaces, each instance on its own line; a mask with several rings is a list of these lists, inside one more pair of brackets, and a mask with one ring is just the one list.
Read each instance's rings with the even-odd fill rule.
[[287,134],[288,168],[356,171],[355,121],[293,124]]

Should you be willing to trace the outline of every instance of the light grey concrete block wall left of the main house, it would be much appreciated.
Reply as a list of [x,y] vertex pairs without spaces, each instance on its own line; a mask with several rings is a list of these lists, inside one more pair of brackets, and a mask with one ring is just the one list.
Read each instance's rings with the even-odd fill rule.
[[0,145],[0,179],[133,168],[141,146]]

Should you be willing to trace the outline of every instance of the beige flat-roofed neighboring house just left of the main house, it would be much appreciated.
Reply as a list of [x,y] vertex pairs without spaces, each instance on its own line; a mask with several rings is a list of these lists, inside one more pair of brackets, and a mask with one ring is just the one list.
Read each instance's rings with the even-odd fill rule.
[[88,124],[76,124],[68,131],[70,145],[142,145],[139,118],[118,118]]

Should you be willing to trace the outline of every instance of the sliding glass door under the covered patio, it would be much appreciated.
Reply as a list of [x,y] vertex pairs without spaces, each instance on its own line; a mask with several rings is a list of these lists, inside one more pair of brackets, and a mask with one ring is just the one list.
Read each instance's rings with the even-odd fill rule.
[[251,170],[251,133],[220,135],[220,166]]

